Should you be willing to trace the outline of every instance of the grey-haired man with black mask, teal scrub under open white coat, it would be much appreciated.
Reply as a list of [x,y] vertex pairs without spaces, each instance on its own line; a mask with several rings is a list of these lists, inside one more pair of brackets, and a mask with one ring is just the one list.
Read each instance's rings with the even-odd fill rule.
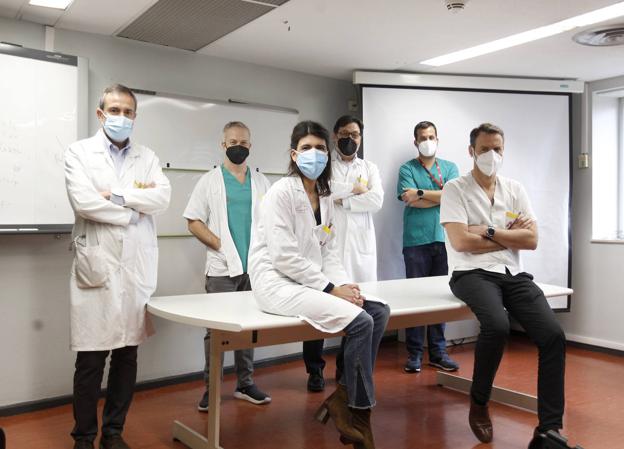
[[[206,245],[206,292],[251,290],[247,274],[247,255],[252,223],[258,204],[269,189],[269,180],[247,166],[251,149],[249,128],[230,122],[223,128],[223,164],[198,181],[184,210],[189,231]],[[198,409],[208,411],[210,373],[210,330],[204,337],[206,391]],[[268,394],[253,383],[253,349],[234,351],[238,382],[234,397],[253,404],[271,402]]]

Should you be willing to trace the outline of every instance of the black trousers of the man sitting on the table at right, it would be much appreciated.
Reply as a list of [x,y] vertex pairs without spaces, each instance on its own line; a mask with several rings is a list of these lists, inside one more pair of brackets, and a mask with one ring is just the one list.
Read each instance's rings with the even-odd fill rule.
[[[509,335],[507,312],[524,328],[539,351],[537,414],[539,429],[563,427],[565,335],[533,276],[485,270],[455,271],[453,294],[476,315],[481,332],[475,349],[471,396],[490,399],[492,383]],[[506,309],[506,310],[505,310]]]

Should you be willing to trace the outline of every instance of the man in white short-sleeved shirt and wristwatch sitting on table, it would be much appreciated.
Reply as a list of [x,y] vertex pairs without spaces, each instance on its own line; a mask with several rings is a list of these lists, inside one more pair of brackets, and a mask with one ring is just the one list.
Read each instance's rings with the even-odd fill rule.
[[509,313],[539,350],[539,425],[529,445],[537,449],[543,434],[563,426],[565,335],[533,276],[522,270],[520,250],[537,247],[537,222],[522,185],[497,176],[503,131],[489,123],[473,129],[469,153],[473,169],[446,184],[440,211],[451,290],[481,325],[468,420],[480,441],[492,440],[487,403],[509,334]]

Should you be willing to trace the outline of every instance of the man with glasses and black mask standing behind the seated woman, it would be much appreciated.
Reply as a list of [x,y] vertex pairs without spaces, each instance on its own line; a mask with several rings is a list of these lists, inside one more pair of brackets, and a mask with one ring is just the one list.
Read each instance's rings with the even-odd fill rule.
[[[343,115],[334,125],[332,151],[332,199],[336,204],[335,232],[341,260],[353,282],[377,280],[377,244],[373,214],[383,204],[379,170],[357,156],[362,144],[362,121]],[[308,373],[308,391],[325,388],[323,340],[303,343],[303,360]],[[338,370],[341,360],[337,359]]]

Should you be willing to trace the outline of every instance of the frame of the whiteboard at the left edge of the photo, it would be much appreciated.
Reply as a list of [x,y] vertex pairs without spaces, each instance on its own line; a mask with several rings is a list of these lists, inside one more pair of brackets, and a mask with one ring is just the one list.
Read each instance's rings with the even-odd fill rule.
[[[5,42],[0,43],[0,54],[35,59],[51,64],[75,66],[77,69],[76,87],[78,89],[76,136],[78,140],[85,139],[89,136],[89,60],[87,58],[59,52],[37,50]],[[0,235],[69,234],[73,226],[74,223],[0,225]]]

